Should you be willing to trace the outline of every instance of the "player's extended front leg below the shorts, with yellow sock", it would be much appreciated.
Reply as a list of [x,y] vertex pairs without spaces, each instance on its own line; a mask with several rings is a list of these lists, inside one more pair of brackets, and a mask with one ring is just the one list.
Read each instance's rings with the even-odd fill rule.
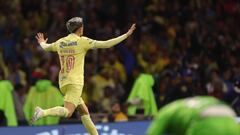
[[91,135],[98,135],[97,129],[90,117],[88,108],[85,105],[85,103],[83,102],[82,98],[81,98],[80,105],[78,105],[78,107],[77,107],[77,110],[81,116],[82,123],[83,123],[84,127],[87,129],[87,131]]

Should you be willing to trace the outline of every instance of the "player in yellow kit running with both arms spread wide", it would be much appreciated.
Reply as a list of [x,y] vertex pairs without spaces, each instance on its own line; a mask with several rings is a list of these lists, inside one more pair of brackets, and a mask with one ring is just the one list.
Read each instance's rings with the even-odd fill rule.
[[[98,135],[87,106],[81,94],[84,84],[84,57],[89,49],[110,48],[129,37],[135,30],[135,24],[127,33],[107,41],[97,41],[83,36],[83,19],[74,17],[67,21],[66,27],[70,34],[48,44],[42,33],[37,33],[36,39],[46,51],[57,52],[60,59],[59,87],[64,95],[64,107],[56,106],[50,109],[36,107],[32,121],[46,116],[71,117],[74,110],[80,113],[81,120],[91,135]],[[44,101],[43,101],[44,102]]]

